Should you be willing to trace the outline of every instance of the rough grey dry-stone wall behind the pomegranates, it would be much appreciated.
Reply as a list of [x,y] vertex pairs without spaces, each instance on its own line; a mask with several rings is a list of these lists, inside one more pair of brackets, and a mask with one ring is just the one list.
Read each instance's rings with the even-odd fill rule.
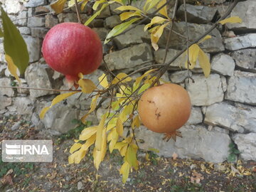
[[[46,0],[1,0],[4,9],[20,30],[28,45],[30,65],[25,77],[21,77],[24,87],[43,87],[63,89],[63,75],[56,73],[46,65],[41,55],[41,43],[48,29],[57,23],[77,22],[75,9],[68,9],[58,16],[50,13],[50,1]],[[144,0],[134,1],[134,6],[143,6]],[[225,0],[203,0],[201,6],[188,1],[188,30],[191,39],[204,33],[217,16],[223,15],[228,8]],[[174,4],[174,1],[171,2]],[[211,6],[208,6],[211,5]],[[95,30],[102,41],[107,33],[119,24],[119,11],[112,4],[98,16],[90,27]],[[181,22],[174,23],[174,31],[185,33],[183,6],[178,7],[177,16]],[[188,75],[182,70],[183,58],[171,64],[171,70],[164,74],[165,80],[186,87],[193,104],[191,117],[181,128],[183,138],[176,142],[163,142],[162,135],[145,129],[137,130],[137,137],[143,139],[143,149],[154,147],[160,154],[171,156],[174,152],[182,158],[202,158],[206,161],[222,162],[228,157],[229,144],[234,141],[240,150],[240,158],[256,161],[256,1],[241,1],[232,11],[231,16],[240,16],[242,23],[227,24],[215,28],[212,38],[201,43],[201,48],[208,53],[212,72],[209,78],[203,76],[197,65],[191,71],[194,83],[184,82]],[[171,10],[169,11],[171,14]],[[46,14],[43,16],[35,16]],[[82,12],[82,21],[86,21],[92,9]],[[18,19],[18,20],[17,20]],[[159,41],[159,50],[154,51],[150,45],[149,33],[144,33],[144,25],[139,25],[113,42],[104,45],[105,60],[111,70],[129,73],[134,68],[161,63],[167,32]],[[14,85],[15,80],[6,69],[3,40],[0,44],[0,85]],[[167,61],[186,41],[173,34],[170,39]],[[110,51],[111,48],[111,51]],[[181,67],[181,68],[180,68]],[[87,75],[97,83],[102,70]],[[141,74],[134,75],[137,77]],[[87,95],[76,94],[60,102],[48,111],[43,120],[38,114],[43,107],[59,92],[45,90],[0,89],[0,115],[19,114],[29,118],[37,129],[47,130],[50,134],[61,134],[73,129],[72,119],[78,119],[90,108]],[[102,110],[110,100],[100,101],[101,107],[88,120],[97,124]]]

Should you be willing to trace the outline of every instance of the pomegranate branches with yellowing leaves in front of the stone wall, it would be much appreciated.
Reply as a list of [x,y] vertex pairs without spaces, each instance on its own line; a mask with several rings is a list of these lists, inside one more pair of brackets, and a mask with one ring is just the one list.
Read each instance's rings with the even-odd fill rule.
[[[55,9],[55,13],[60,13],[64,9],[65,2],[67,0],[58,0],[55,1],[51,7]],[[176,9],[178,6],[178,0],[176,0],[174,5],[174,14],[172,18],[169,18],[167,12],[167,4],[171,0],[156,0],[151,1],[147,0],[146,4],[144,5],[144,10],[140,10],[134,6],[126,6],[123,4],[121,0],[113,0],[117,2],[120,6],[117,8],[119,11],[125,11],[124,13],[120,14],[120,18],[123,23],[118,26],[115,26],[112,31],[107,35],[105,42],[107,43],[112,38],[120,36],[127,31],[132,30],[141,23],[149,20],[150,22],[146,24],[144,31],[148,30],[151,33],[151,45],[155,50],[158,49],[158,41],[161,38],[164,29],[169,29],[168,38],[170,38],[171,33],[176,33],[173,30],[174,26],[174,19],[176,17]],[[107,107],[107,110],[102,114],[100,117],[100,123],[98,125],[86,127],[82,130],[79,135],[79,139],[75,140],[75,143],[70,148],[70,156],[68,161],[70,164],[78,164],[80,161],[85,157],[85,154],[89,151],[90,147],[94,145],[93,149],[93,158],[95,168],[99,169],[100,163],[105,158],[105,154],[107,151],[107,144],[110,152],[114,149],[117,149],[120,155],[124,158],[124,164],[122,164],[120,174],[123,176],[123,182],[127,181],[129,176],[129,172],[131,169],[139,169],[139,162],[137,160],[137,150],[139,149],[139,145],[135,136],[135,129],[140,127],[140,119],[137,113],[137,104],[139,101],[140,96],[142,93],[147,90],[149,87],[153,87],[159,85],[161,82],[161,76],[164,75],[166,70],[168,70],[171,63],[176,60],[180,55],[185,53],[187,55],[186,63],[184,63],[184,67],[188,70],[194,68],[196,65],[196,61],[199,60],[199,64],[203,69],[203,73],[207,77],[210,74],[210,62],[206,56],[206,53],[201,50],[198,46],[199,43],[202,41],[206,41],[210,36],[208,33],[213,31],[220,24],[225,24],[226,22],[233,22],[234,18],[224,19],[226,18],[230,12],[233,10],[238,1],[235,0],[233,4],[230,5],[228,10],[225,14],[216,22],[213,23],[208,31],[203,33],[200,37],[196,38],[196,40],[191,41],[188,38],[188,22],[186,18],[186,1],[183,1],[185,6],[185,22],[186,22],[186,36],[180,34],[183,38],[186,38],[186,48],[183,48],[179,53],[177,53],[174,58],[166,62],[166,55],[169,48],[169,40],[166,42],[166,50],[164,56],[164,62],[162,64],[154,64],[148,65],[144,68],[140,68],[139,70],[135,70],[132,73],[119,73],[115,75],[105,63],[105,73],[98,78],[99,83],[95,85],[92,80],[85,79],[82,73],[78,74],[79,80],[78,85],[80,90],[53,90],[55,92],[62,92],[65,93],[56,96],[51,105],[48,107],[43,108],[41,111],[40,117],[43,119],[44,115],[51,107],[58,104],[58,102],[67,99],[68,97],[77,94],[78,92],[82,92],[83,94],[88,94],[87,98],[92,98],[90,104],[90,110],[81,118],[82,124],[86,124],[86,118],[89,114],[97,110],[97,100],[99,97],[109,97],[110,96],[110,103]],[[70,3],[71,2],[71,3]],[[100,0],[100,1],[93,1],[94,4],[92,9],[95,10],[95,14],[91,16],[85,23],[86,25],[90,23],[100,12],[105,9],[111,1]],[[81,9],[87,4],[87,1],[83,0],[74,0],[69,1],[69,6],[75,6],[76,11],[78,14],[78,21],[80,22],[80,10],[78,5],[81,4]],[[97,8],[100,8],[97,11]],[[146,14],[152,8],[156,8],[156,11],[153,11],[152,14]],[[1,10],[2,11],[2,10]],[[2,11],[2,14],[4,12]],[[157,14],[157,16],[156,16]],[[8,17],[3,18],[3,23],[11,23]],[[129,21],[126,21],[129,19]],[[139,21],[139,22],[137,22]],[[235,19],[238,21],[238,19]],[[135,23],[137,22],[137,23]],[[135,23],[131,28],[132,23]],[[11,24],[10,24],[11,25]],[[169,27],[169,25],[171,25]],[[14,25],[12,25],[14,26]],[[14,31],[16,31],[15,27]],[[9,28],[4,28],[4,40],[8,39],[7,33],[10,33]],[[21,36],[18,33],[14,34],[16,38],[21,40]],[[21,40],[22,41],[22,40]],[[22,44],[23,45],[23,44]],[[4,46],[6,49],[6,46]],[[22,49],[20,49],[22,50]],[[19,55],[18,55],[19,56]],[[18,65],[16,62],[16,58],[18,57],[16,54],[11,53],[9,57],[7,56],[6,59],[9,61],[9,65],[14,70],[12,71],[12,75],[16,78],[18,77],[16,73],[16,66]],[[28,59],[28,58],[26,58]],[[27,64],[27,63],[25,63]],[[26,65],[20,65],[19,68],[24,70]],[[146,70],[146,71],[145,71]],[[144,74],[140,75],[138,78],[132,79],[132,75],[143,71]],[[103,88],[100,88],[101,85]],[[35,88],[35,87],[5,87],[5,88],[24,88],[24,89],[31,89],[31,90],[52,90],[52,89],[44,89],[44,88]],[[124,124],[127,122],[131,122],[131,127],[129,128],[129,132],[126,136],[124,136]]]

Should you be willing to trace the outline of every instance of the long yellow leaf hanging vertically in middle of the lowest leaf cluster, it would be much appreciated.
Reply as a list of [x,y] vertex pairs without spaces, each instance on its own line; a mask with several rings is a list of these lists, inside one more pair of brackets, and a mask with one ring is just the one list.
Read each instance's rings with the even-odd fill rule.
[[[102,130],[102,142],[100,146],[100,150],[93,149],[93,163],[95,164],[95,168],[98,170],[100,166],[100,162],[104,159],[106,151],[107,151],[107,134],[106,128]],[[97,141],[96,141],[97,142]],[[96,143],[95,143],[96,145]]]

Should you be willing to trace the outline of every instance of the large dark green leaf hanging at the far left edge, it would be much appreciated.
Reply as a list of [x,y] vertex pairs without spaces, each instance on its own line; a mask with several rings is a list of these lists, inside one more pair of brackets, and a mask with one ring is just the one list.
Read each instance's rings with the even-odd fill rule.
[[14,65],[23,74],[29,61],[26,43],[3,8],[1,8],[1,18],[4,26],[4,52],[11,57]]

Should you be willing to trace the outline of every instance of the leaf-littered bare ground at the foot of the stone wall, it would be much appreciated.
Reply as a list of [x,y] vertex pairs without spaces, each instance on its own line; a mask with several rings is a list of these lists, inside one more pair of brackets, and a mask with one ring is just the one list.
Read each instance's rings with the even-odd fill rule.
[[[21,122],[18,129],[11,130]],[[51,137],[20,117],[0,117],[4,139],[53,139],[52,163],[4,163],[0,159],[0,191],[256,191],[256,162],[210,164],[195,159],[159,157],[139,151],[139,170],[122,183],[122,157],[109,152],[99,171],[92,155],[68,164],[69,148],[77,132]]]

